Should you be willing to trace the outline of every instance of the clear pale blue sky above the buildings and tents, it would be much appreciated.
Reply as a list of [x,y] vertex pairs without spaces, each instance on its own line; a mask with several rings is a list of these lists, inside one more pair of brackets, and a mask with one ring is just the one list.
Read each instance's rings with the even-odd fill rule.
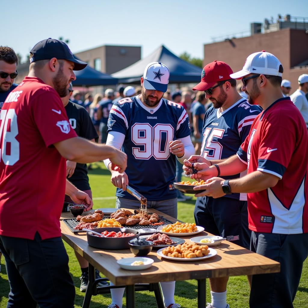
[[307,0],[32,0],[2,1],[0,45],[23,60],[40,40],[62,36],[72,52],[101,45],[141,46],[142,57],[164,44],[203,59],[212,37],[250,30],[271,16],[308,17]]

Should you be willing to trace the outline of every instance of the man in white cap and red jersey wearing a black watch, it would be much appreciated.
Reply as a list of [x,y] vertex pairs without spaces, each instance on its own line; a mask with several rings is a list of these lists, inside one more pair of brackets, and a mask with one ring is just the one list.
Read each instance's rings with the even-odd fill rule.
[[[250,308],[293,307],[308,255],[308,134],[298,109],[282,96],[282,73],[279,60],[262,51],[230,75],[242,80],[249,102],[263,111],[236,155],[215,166],[196,163],[199,171],[191,176],[206,180],[194,188],[206,189],[196,197],[247,193],[250,249],[280,262],[280,273],[252,276]],[[245,169],[239,179],[218,177]]]

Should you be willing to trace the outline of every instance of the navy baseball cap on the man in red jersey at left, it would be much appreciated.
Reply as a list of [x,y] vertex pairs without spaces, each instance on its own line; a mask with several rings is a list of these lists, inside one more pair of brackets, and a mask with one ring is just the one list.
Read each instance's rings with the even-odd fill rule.
[[57,58],[73,62],[75,64],[73,69],[74,71],[80,71],[87,66],[86,62],[82,62],[74,58],[67,44],[57,39],[49,38],[40,41],[34,45],[30,53],[32,54],[30,63],[39,60]]

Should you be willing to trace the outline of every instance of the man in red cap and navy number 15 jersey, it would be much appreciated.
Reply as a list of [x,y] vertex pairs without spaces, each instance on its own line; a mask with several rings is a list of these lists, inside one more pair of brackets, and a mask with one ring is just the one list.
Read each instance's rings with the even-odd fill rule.
[[[261,108],[250,105],[236,90],[236,80],[230,78],[231,67],[221,61],[207,64],[201,73],[201,82],[193,90],[205,91],[210,107],[203,121],[201,156],[192,156],[184,162],[186,174],[191,163],[216,164],[218,160],[237,153],[249,133],[253,120]],[[243,172],[244,173],[244,172]],[[237,178],[243,174],[225,177]],[[214,199],[198,197],[194,211],[197,225],[214,235],[226,237],[237,245],[249,249],[251,232],[248,229],[246,194],[232,193]],[[207,308],[228,308],[226,288],[229,277],[210,278],[212,302]]]

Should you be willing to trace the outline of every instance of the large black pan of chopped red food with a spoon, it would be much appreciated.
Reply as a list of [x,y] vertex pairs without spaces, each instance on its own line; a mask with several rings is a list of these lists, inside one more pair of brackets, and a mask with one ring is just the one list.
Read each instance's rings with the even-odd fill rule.
[[[122,229],[122,230],[121,230]],[[95,232],[102,233],[104,231],[114,231],[114,232],[125,232],[125,233],[134,233],[134,236],[129,237],[98,237],[93,235],[92,233],[87,232],[87,240],[88,245],[100,248],[100,249],[128,249],[129,245],[128,242],[133,238],[139,237],[140,232],[135,229],[128,229],[128,228],[96,228],[94,229]]]

